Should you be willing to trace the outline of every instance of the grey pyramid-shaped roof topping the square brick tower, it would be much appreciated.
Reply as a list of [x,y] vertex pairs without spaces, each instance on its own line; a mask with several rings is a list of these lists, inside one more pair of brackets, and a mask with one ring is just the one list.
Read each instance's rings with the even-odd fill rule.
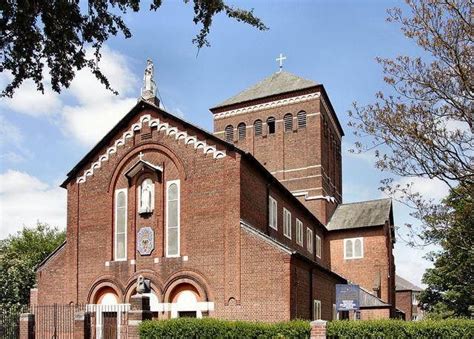
[[282,71],[274,73],[259,83],[243,90],[237,95],[221,102],[214,108],[238,104],[245,101],[269,97],[272,95],[293,92],[317,86],[312,80],[303,79],[292,73]]

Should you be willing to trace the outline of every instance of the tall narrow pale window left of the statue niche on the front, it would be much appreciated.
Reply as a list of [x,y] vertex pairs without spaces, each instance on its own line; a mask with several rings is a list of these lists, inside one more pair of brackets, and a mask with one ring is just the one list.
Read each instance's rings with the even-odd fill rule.
[[115,191],[115,260],[127,260],[127,189]]

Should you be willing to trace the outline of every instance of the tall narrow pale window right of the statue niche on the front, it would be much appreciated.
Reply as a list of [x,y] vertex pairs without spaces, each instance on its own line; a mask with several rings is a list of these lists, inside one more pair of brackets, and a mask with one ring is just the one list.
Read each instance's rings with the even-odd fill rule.
[[166,193],[166,256],[179,257],[179,180],[169,181]]

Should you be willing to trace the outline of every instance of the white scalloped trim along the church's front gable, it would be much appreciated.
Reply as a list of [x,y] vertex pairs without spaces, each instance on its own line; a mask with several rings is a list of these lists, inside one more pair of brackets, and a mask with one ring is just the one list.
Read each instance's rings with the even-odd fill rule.
[[160,123],[160,119],[152,119],[150,114],[142,115],[138,122],[134,123],[128,131],[122,134],[122,137],[115,140],[114,145],[107,148],[104,154],[98,157],[98,160],[94,162],[89,169],[84,171],[84,174],[76,179],[78,184],[86,182],[87,177],[94,174],[96,169],[99,169],[103,162],[109,160],[111,154],[117,153],[117,148],[122,147],[127,142],[127,139],[133,137],[134,132],[140,131],[144,123],[148,123],[150,128],[156,128],[159,132],[164,132],[165,135],[176,141],[184,140],[185,145],[193,145],[195,149],[202,150],[207,155],[210,154],[214,159],[222,159],[226,156],[225,151],[219,151],[215,146],[209,146],[205,141],[198,140],[195,136],[188,135],[186,131],[180,131],[174,126],[170,126],[168,123]]

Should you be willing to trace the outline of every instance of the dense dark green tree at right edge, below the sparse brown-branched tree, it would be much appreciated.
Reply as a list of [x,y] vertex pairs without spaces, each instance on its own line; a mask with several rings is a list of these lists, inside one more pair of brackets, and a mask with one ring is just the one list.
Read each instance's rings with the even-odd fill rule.
[[434,267],[423,275],[428,288],[420,300],[439,317],[468,317],[474,307],[474,185],[455,188],[443,206],[426,221],[436,224],[427,237],[441,249],[429,255]]

